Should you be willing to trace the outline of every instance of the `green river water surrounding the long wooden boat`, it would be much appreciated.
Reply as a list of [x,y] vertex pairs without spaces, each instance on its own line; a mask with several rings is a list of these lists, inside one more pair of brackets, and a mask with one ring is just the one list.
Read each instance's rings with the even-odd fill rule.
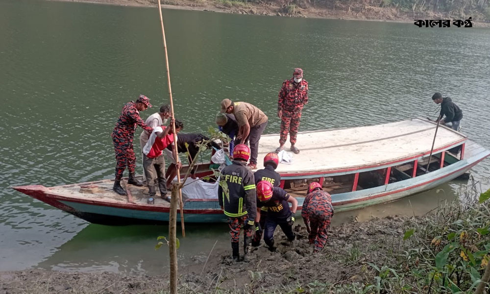
[[[277,133],[278,91],[301,67],[310,103],[300,130],[435,117],[431,96],[439,91],[463,109],[463,132],[490,147],[488,28],[185,10],[164,10],[164,19],[184,131],[214,126],[219,102],[231,98],[259,106],[270,118],[265,133]],[[110,133],[123,103],[139,94],[156,106],[168,102],[156,8],[0,1],[0,270],[166,270],[166,249],[153,251],[166,226],[89,224],[9,188],[113,177]],[[488,177],[489,169],[484,161],[473,175]],[[461,184],[339,213],[334,224],[422,214],[455,199]],[[226,224],[186,229],[182,263],[205,260],[216,240],[229,246]]]

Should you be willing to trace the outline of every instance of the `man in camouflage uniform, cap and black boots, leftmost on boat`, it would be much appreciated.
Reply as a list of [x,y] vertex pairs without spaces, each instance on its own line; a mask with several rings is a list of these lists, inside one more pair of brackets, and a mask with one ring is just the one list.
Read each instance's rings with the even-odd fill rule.
[[127,102],[123,106],[121,115],[119,116],[116,127],[112,132],[112,142],[114,143],[114,151],[116,152],[116,179],[114,180],[114,192],[119,195],[127,195],[126,191],[121,187],[121,179],[126,166],[129,170],[128,184],[143,186],[141,181],[136,180],[134,170],[136,168],[136,156],[133,150],[133,137],[136,125],[141,126],[145,131],[151,132],[153,129],[148,126],[141,118],[140,111],[151,107],[150,99],[144,95],[140,95],[136,102]]

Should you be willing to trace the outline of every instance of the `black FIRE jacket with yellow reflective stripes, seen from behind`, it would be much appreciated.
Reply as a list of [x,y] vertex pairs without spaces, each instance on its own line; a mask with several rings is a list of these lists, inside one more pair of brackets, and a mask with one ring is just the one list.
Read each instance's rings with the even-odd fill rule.
[[218,199],[226,216],[238,218],[248,215],[249,221],[255,219],[257,204],[254,177],[245,162],[233,161],[232,165],[221,170]]

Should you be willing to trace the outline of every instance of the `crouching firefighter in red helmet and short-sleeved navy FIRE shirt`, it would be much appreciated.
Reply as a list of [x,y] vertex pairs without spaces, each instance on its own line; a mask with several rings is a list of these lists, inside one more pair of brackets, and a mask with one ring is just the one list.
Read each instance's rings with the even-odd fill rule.
[[[260,207],[268,208],[266,223],[264,225],[264,242],[270,251],[275,251],[274,231],[279,225],[288,237],[293,241],[296,235],[293,233],[294,215],[298,207],[298,201],[279,187],[273,187],[268,181],[260,181],[257,184],[257,211]],[[289,207],[289,203],[292,207]],[[260,221],[260,213],[257,213],[255,221]]]

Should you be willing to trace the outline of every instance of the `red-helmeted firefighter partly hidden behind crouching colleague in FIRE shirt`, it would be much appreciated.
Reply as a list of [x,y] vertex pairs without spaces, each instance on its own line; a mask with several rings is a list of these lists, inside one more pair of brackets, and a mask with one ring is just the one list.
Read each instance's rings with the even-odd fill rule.
[[[281,184],[281,176],[275,171],[279,164],[279,156],[275,152],[267,153],[264,157],[264,169],[258,170],[254,173],[255,185],[260,181],[268,181],[274,187],[279,187]],[[252,246],[260,245],[260,239],[262,239],[262,233],[264,231],[264,224],[266,223],[267,207],[263,206],[260,209],[260,221],[255,223],[255,234],[252,239]]]

